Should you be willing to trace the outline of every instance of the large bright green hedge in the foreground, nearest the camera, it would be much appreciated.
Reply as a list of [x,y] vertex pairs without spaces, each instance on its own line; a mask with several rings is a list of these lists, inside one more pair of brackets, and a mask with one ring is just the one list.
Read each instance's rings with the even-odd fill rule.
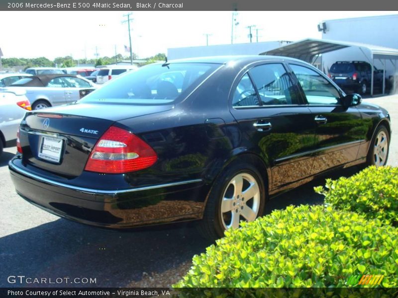
[[398,286],[398,229],[379,220],[301,205],[241,225],[194,256],[174,287],[345,287],[362,274]]

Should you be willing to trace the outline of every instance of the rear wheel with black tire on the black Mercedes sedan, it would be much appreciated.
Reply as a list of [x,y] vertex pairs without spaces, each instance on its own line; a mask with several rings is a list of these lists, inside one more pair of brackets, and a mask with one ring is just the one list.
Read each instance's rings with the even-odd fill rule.
[[[245,198],[245,194],[251,197]],[[198,224],[199,233],[210,240],[220,238],[226,229],[237,228],[239,219],[253,221],[262,216],[265,202],[264,181],[257,168],[236,162],[214,182]]]

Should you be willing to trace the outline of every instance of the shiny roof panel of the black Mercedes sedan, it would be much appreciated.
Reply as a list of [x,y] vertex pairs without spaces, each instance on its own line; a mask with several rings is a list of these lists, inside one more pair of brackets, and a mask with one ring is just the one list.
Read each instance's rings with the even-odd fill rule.
[[[287,60],[305,63],[304,61],[282,56],[268,56],[268,55],[237,55],[237,56],[210,56],[210,57],[197,57],[197,58],[184,58],[169,60],[167,63],[214,63],[214,64],[227,64],[231,62],[239,63],[253,63],[268,60]],[[163,64],[165,62],[159,62]],[[307,63],[305,63],[307,64]]]

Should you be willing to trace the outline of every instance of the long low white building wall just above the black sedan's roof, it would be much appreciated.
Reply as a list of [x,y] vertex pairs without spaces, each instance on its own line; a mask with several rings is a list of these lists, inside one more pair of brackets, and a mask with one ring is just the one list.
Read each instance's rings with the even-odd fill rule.
[[279,48],[286,45],[287,41],[270,41],[258,43],[228,44],[214,46],[200,46],[187,48],[171,48],[167,49],[167,58],[181,59],[193,57],[207,56],[224,56],[224,55],[258,55],[268,50]]

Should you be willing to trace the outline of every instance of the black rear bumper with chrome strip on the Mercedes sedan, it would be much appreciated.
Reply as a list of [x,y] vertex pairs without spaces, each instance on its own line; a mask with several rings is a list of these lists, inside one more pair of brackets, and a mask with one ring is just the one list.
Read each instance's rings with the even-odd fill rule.
[[200,219],[208,191],[201,179],[124,190],[85,189],[37,175],[17,157],[8,168],[16,192],[29,203],[66,219],[102,227]]

